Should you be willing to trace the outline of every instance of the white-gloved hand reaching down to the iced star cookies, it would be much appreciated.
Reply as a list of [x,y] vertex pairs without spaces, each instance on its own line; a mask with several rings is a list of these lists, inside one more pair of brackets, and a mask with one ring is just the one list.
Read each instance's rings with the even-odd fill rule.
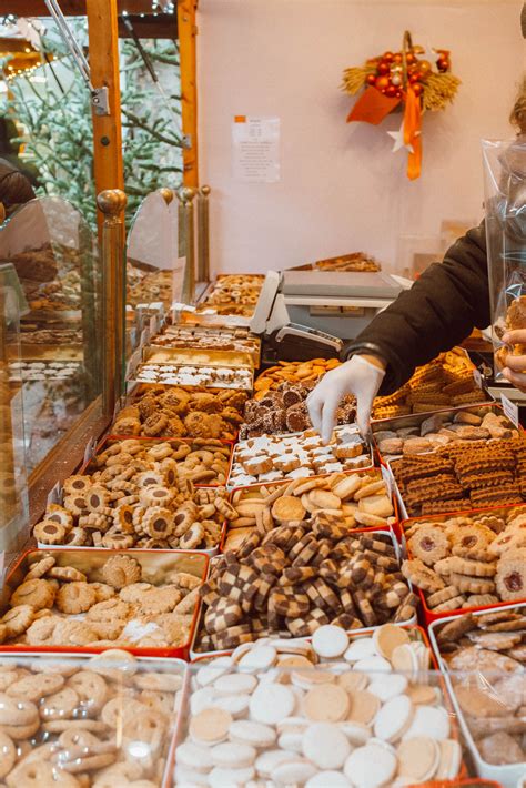
[[[376,364],[382,364],[374,358]],[[364,356],[353,355],[335,370],[327,372],[311,392],[306,404],[312,425],[327,444],[336,421],[336,410],[347,394],[356,397],[356,422],[362,435],[370,430],[373,400],[384,380],[385,368],[380,368]]]

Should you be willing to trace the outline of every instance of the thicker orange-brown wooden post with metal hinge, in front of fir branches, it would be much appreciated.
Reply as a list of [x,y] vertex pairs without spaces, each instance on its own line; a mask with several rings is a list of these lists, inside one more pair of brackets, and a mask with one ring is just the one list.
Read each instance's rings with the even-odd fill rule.
[[[93,112],[95,193],[124,189],[117,0],[87,0],[90,71],[94,88],[108,88],[109,115]],[[99,233],[103,216],[99,213]],[[124,224],[122,224],[124,229]]]

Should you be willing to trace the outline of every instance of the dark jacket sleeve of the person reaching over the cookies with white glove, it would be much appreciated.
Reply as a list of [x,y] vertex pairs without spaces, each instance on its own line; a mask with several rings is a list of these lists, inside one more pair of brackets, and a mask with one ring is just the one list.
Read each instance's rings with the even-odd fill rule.
[[391,394],[438,353],[486,327],[489,289],[484,222],[469,230],[434,263],[411,290],[378,314],[348,346],[387,362],[380,394]]

